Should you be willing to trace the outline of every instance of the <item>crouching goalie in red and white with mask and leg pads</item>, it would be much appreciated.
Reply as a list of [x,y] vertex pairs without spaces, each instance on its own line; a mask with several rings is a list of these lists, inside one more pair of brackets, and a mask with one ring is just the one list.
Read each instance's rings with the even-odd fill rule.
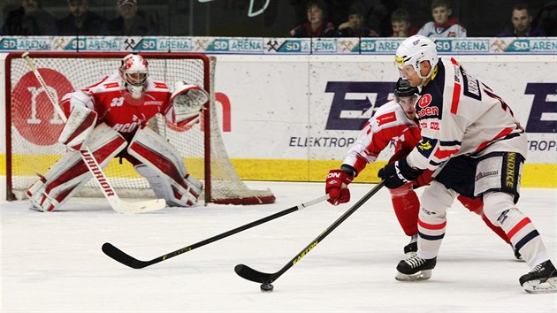
[[177,126],[193,125],[208,99],[202,88],[183,81],[171,92],[149,76],[147,60],[127,55],[115,73],[62,98],[68,120],[58,141],[69,151],[27,190],[32,209],[56,210],[91,179],[78,151],[82,145],[101,167],[115,156],[126,158],[168,206],[195,205],[202,183],[187,173],[178,151],[147,123],[160,113]]

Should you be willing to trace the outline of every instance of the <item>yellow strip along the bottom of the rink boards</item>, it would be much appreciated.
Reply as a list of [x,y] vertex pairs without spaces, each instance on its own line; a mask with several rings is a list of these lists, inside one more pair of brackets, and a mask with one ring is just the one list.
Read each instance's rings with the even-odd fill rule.
[[[14,175],[30,176],[34,171],[45,173],[48,164],[54,164],[60,156],[26,156],[25,164],[45,164],[38,170],[29,170],[14,173]],[[40,159],[41,162],[38,162]],[[201,159],[186,159],[187,170],[196,177],[203,178],[203,165]],[[5,175],[5,155],[0,155],[0,175]],[[340,167],[341,161],[324,160],[268,160],[268,159],[233,159],[232,164],[244,180],[271,180],[271,181],[324,181],[325,175],[331,169]],[[111,160],[105,169],[111,177],[139,177],[134,172],[131,164],[119,164],[119,159]],[[378,170],[385,166],[385,162],[369,164],[358,175],[355,182],[377,183]],[[116,171],[118,169],[119,172]],[[121,169],[126,171],[121,172]],[[215,172],[218,174],[218,172]],[[557,188],[557,164],[524,164],[522,187],[548,187]]]

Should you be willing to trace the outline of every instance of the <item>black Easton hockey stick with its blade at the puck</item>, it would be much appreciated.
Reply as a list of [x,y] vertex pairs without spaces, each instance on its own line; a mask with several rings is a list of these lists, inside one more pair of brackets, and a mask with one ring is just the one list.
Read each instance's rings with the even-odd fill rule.
[[342,214],[342,216],[340,216],[340,218],[334,221],[332,225],[327,227],[327,229],[325,229],[323,233],[319,234],[316,239],[312,240],[311,243],[309,243],[309,245],[306,246],[306,248],[303,248],[298,255],[294,256],[292,260],[286,263],[286,265],[283,266],[282,269],[280,269],[280,271],[269,274],[269,273],[264,273],[262,271],[256,271],[251,267],[249,267],[248,265],[244,265],[244,264],[236,265],[234,267],[234,271],[236,271],[236,274],[240,275],[240,277],[243,279],[248,279],[251,281],[255,281],[256,283],[261,283],[262,284],[261,290],[263,292],[272,291],[273,286],[271,285],[271,283],[273,281],[279,279],[279,277],[282,274],[284,274],[286,271],[288,271],[288,269],[290,269],[292,266],[294,266],[295,263],[298,263],[302,257],[309,254],[309,251],[311,251],[312,248],[316,248],[317,244],[321,242],[321,240],[324,240],[324,238],[329,233],[331,233],[342,222],[344,222],[345,219],[347,219],[350,215],[352,215],[352,213],[354,213],[355,210],[358,210],[358,208],[360,208],[363,203],[367,202],[370,199],[370,197],[372,195],[375,195],[378,192],[378,190],[381,189],[381,187],[383,186],[385,186],[385,179],[381,180],[381,182],[379,182],[378,185],[376,185],[376,187],[373,187],[366,195],[362,197],[362,199],[360,199],[350,209],[348,209],[344,214]]

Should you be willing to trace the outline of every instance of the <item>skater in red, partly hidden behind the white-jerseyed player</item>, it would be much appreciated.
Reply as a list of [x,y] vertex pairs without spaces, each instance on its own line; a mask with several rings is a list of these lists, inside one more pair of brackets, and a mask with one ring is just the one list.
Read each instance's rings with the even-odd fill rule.
[[[379,153],[391,141],[394,141],[394,155],[389,163],[400,160],[416,147],[420,141],[420,126],[417,124],[415,103],[418,88],[410,86],[408,80],[399,79],[394,88],[394,99],[380,106],[378,111],[363,126],[355,145],[345,157],[340,170],[332,170],[326,178],[325,193],[330,196],[333,205],[348,202],[350,190],[347,185],[362,172],[367,164],[375,162]],[[414,189],[429,185],[432,171],[425,171],[417,179],[409,181],[398,188],[389,189],[393,209],[404,233],[410,237],[410,243],[404,247],[404,253],[411,256],[417,251],[417,221],[420,202]],[[483,214],[480,199],[458,196],[462,205],[482,216],[485,224],[497,233],[502,240],[510,243],[500,227],[492,225]]]

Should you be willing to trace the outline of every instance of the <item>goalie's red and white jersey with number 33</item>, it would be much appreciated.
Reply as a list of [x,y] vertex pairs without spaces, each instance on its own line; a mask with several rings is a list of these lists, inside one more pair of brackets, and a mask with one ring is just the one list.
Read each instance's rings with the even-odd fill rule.
[[[169,122],[176,124],[171,95],[164,82],[148,77],[141,98],[134,99],[116,72],[95,85],[65,95],[61,104],[66,116],[75,105],[96,111],[97,124],[105,123],[129,140],[139,126],[146,125],[156,113],[162,113]],[[178,126],[187,122],[182,121]]]

